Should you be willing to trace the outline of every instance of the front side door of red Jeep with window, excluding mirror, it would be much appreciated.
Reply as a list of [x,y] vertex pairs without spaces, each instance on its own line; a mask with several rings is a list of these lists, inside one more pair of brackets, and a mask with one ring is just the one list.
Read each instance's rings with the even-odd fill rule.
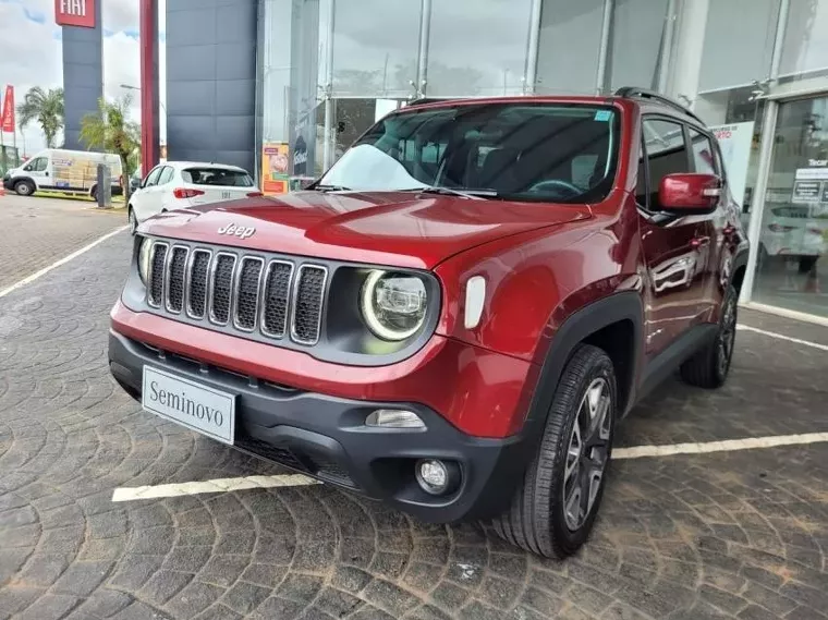
[[661,179],[695,171],[685,126],[673,120],[649,118],[643,127],[636,200],[647,273],[645,351],[652,356],[694,325],[709,319],[716,235],[713,216],[669,216],[659,204]]

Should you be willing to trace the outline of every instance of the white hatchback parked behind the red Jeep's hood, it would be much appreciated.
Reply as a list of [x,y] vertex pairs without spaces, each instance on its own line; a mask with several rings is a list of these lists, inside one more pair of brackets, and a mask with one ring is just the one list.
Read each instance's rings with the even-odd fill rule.
[[130,231],[134,234],[141,222],[162,211],[260,195],[243,168],[167,161],[153,168],[130,197]]

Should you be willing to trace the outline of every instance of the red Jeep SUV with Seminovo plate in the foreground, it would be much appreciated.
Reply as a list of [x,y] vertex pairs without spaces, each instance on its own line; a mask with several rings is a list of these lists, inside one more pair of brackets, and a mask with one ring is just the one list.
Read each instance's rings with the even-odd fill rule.
[[143,223],[110,366],[239,450],[562,557],[617,422],[677,368],[724,381],[746,252],[669,99],[414,102],[307,191]]

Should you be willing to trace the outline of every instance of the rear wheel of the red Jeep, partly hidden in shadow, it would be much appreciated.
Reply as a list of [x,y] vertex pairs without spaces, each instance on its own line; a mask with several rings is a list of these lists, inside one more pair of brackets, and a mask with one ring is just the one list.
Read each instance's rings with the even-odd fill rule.
[[681,365],[681,376],[691,386],[716,389],[724,385],[735,348],[739,293],[729,285],[721,301],[716,338]]

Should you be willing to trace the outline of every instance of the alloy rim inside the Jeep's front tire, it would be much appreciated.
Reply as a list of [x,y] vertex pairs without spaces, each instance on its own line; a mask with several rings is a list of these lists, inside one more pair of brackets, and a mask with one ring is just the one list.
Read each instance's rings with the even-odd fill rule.
[[612,428],[612,396],[606,379],[586,388],[572,425],[563,472],[563,515],[579,530],[595,506],[604,482]]

